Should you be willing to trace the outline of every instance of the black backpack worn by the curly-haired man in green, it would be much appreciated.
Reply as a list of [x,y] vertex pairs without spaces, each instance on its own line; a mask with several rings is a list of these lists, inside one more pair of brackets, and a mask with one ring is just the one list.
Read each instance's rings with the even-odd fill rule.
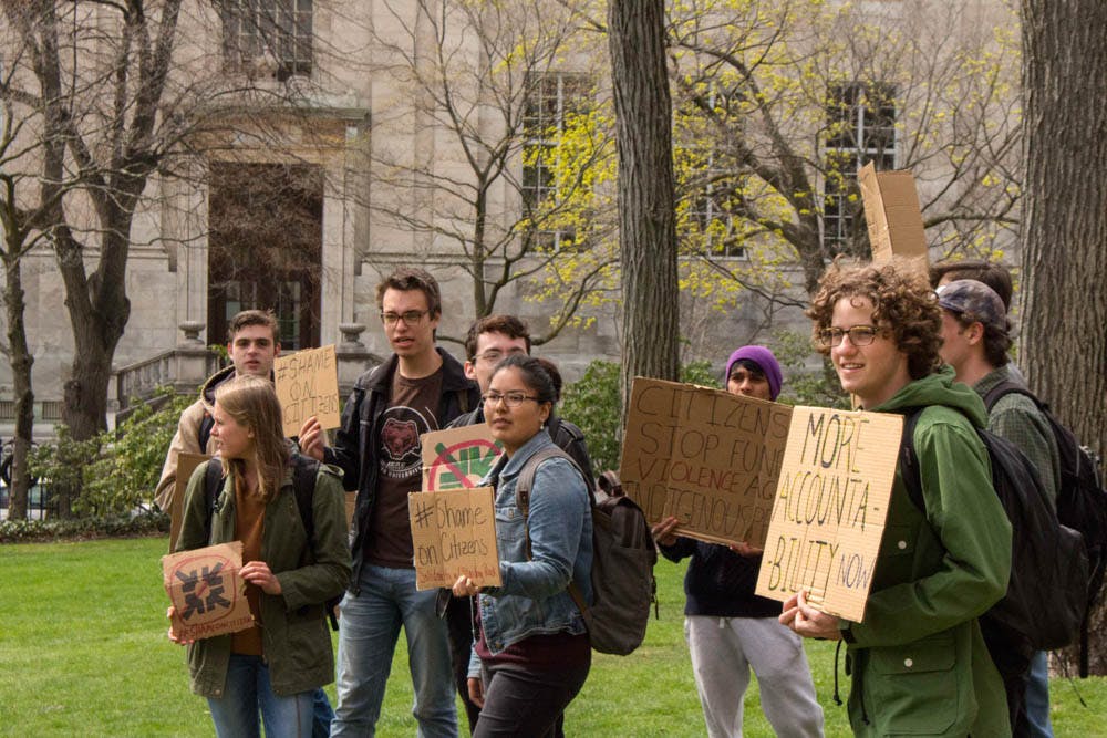
[[[925,410],[912,408],[903,424],[900,464],[911,502],[925,512],[914,427]],[[1082,536],[1057,522],[1037,470],[1010,440],[975,428],[987,449],[992,486],[1011,521],[1007,593],[981,615],[981,626],[1025,654],[1073,643],[1087,609],[1088,557]],[[1007,654],[994,654],[1003,658]]]

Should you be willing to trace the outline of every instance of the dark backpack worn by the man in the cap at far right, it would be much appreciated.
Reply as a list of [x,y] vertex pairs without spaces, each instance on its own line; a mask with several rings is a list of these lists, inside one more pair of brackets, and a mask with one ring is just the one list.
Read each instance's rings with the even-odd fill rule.
[[[1099,480],[1099,469],[1092,455],[1080,446],[1073,432],[1066,428],[1043,403],[1026,387],[1014,382],[1001,382],[984,396],[984,405],[991,413],[1001,397],[1017,393],[1034,401],[1037,408],[1049,420],[1054,440],[1061,455],[1061,488],[1057,491],[1057,520],[1063,526],[1077,530],[1084,536],[1088,551],[1087,611],[1099,599],[1107,568],[1107,491]],[[1088,675],[1088,622],[1080,625],[1080,677]]]

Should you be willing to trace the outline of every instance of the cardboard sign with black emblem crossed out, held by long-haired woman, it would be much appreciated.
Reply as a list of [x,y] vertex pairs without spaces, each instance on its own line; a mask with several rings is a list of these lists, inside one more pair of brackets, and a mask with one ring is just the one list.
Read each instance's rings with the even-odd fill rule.
[[231,541],[162,557],[173,630],[185,641],[245,631],[254,624],[246,601],[242,542]]

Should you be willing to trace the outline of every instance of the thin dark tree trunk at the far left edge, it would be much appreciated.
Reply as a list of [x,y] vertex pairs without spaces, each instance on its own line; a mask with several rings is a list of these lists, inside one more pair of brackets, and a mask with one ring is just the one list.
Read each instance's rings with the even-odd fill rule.
[[15,395],[15,435],[12,438],[11,480],[9,482],[8,519],[27,518],[27,498],[31,486],[28,453],[34,430],[34,393],[31,392],[31,366],[34,357],[27,345],[23,313],[23,279],[20,258],[22,243],[9,245],[4,252],[4,310],[8,320],[8,350],[11,362],[12,389]]

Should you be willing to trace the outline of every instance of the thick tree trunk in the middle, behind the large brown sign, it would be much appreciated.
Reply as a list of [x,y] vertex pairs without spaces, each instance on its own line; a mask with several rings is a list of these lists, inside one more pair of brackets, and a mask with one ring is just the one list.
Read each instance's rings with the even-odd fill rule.
[[622,267],[622,407],[634,376],[676,380],[676,279],[672,102],[662,0],[611,0],[608,43],[619,152]]

